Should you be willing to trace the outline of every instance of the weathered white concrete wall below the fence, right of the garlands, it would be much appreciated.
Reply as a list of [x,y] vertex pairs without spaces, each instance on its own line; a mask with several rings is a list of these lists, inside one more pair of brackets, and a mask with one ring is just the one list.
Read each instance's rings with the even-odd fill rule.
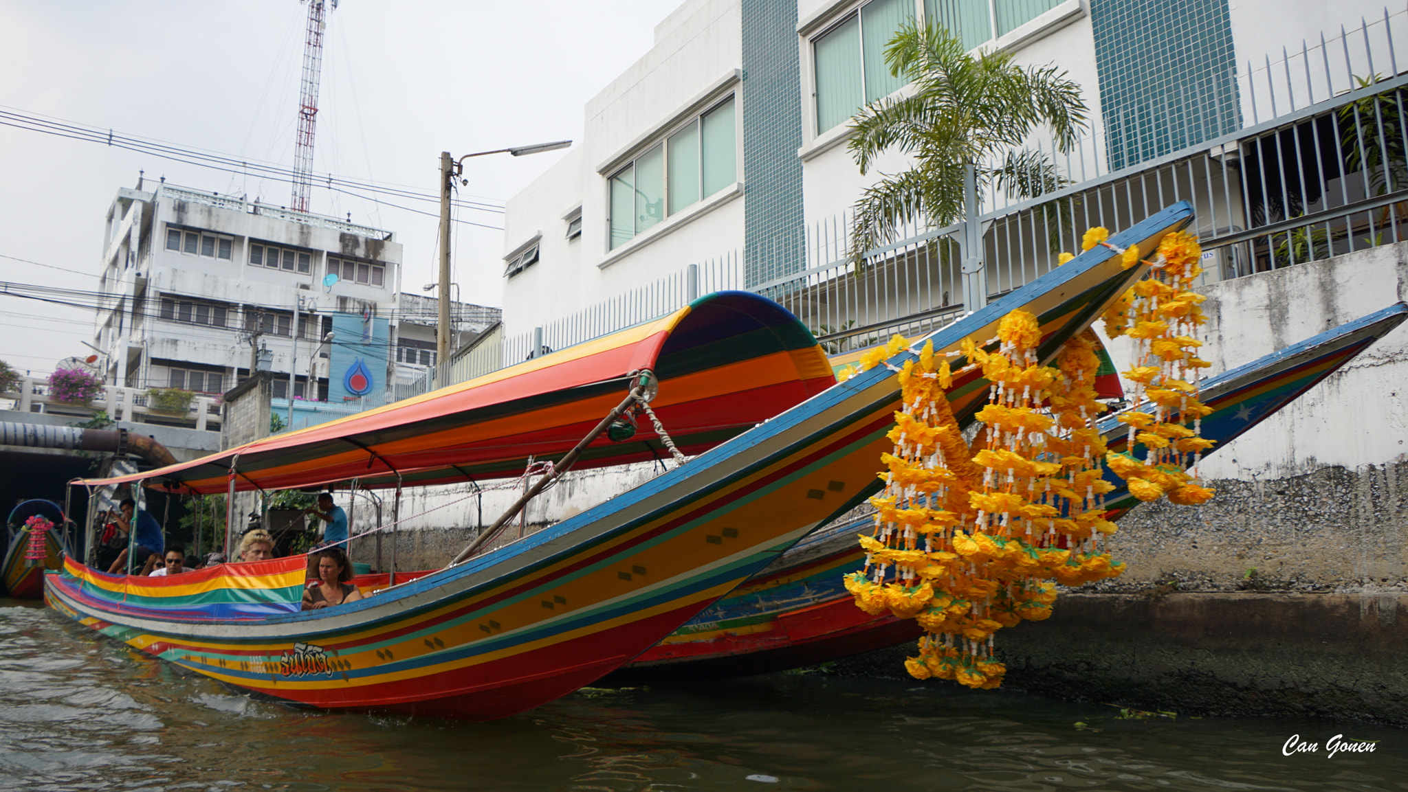
[[[1202,357],[1225,371],[1390,307],[1408,245],[1384,245],[1201,288]],[[1117,367],[1129,346],[1111,345]],[[1119,522],[1124,577],[1101,591],[1408,591],[1408,326],[1225,447],[1202,506],[1146,504]]]

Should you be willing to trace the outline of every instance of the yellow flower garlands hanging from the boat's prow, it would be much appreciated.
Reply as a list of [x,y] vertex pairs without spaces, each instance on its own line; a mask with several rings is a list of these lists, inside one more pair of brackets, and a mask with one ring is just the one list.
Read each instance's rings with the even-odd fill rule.
[[[1091,229],[1084,248],[1108,246],[1107,238],[1105,229]],[[1126,267],[1138,262],[1138,248],[1119,253]],[[1197,378],[1186,378],[1205,366],[1190,352],[1198,345],[1191,332],[1202,324],[1201,300],[1187,290],[1198,255],[1187,235],[1166,239],[1160,274],[1150,279],[1156,286],[1140,281],[1107,312],[1111,335],[1140,339],[1140,357],[1126,376],[1159,405],[1155,415],[1121,418],[1131,426],[1131,447],[1149,449],[1143,463],[1110,453],[1095,428],[1105,405],[1095,400],[1098,340],[1090,331],[1066,342],[1056,367],[1038,363],[1041,326],[1025,311],[1002,318],[995,352],[964,339],[966,366],[957,373],[979,369],[991,384],[990,404],[977,414],[986,429],[973,447],[949,408],[956,371],[945,357],[935,360],[932,343],[900,370],[904,407],[888,435],[894,452],[881,456],[886,491],[870,499],[873,535],[859,537],[865,570],[846,575],[845,585],[865,612],[914,618],[928,633],[919,656],[905,661],[911,675],[995,688],[1007,670],[993,657],[993,633],[1049,618],[1055,582],[1083,585],[1124,571],[1101,550],[1101,537],[1115,532],[1105,519],[1104,495],[1114,485],[1102,461],[1140,499],[1211,497],[1183,470],[1211,445],[1197,436],[1197,419],[1207,414]],[[894,336],[859,370],[903,347]],[[1193,429],[1180,423],[1188,419]]]

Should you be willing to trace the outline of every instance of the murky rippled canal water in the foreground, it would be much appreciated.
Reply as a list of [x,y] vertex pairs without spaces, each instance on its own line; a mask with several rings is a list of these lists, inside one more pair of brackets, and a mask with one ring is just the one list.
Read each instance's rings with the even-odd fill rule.
[[[318,715],[0,601],[6,791],[1408,789],[1408,730],[1119,716],[824,674],[587,689],[494,723]],[[1319,750],[1283,755],[1293,734]],[[1376,750],[1329,757],[1335,734]]]

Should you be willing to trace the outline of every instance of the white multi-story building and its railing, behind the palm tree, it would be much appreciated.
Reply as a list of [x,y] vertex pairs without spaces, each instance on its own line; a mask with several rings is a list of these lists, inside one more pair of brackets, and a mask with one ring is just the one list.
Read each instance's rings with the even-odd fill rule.
[[[904,243],[846,267],[848,210],[908,165],[891,152],[862,176],[848,122],[867,101],[910,90],[890,75],[884,46],[911,20],[946,27],[974,53],[1053,65],[1090,108],[1088,135],[1050,159],[1074,196],[1060,215],[1070,228],[1035,228],[1049,217],[1014,219],[1015,210],[1001,217],[1022,201],[983,197],[993,293],[1050,267],[1071,248],[1077,215],[1086,224],[1077,234],[1118,228],[1191,197],[1198,231],[1212,238],[1363,198],[1369,186],[1350,183],[1357,166],[1314,170],[1311,148],[1325,153],[1331,143],[1311,134],[1345,135],[1332,120],[1295,132],[1305,138],[1300,165],[1291,141],[1266,125],[1304,117],[1359,80],[1394,77],[1393,49],[1408,34],[1401,8],[1367,0],[686,0],[656,27],[655,45],[587,103],[582,142],[508,201],[505,355],[521,359],[535,326],[560,347],[717,287],[762,291],[819,335],[849,325],[862,339],[901,329],[893,321],[903,317],[959,311],[952,257],[934,245],[946,243],[945,229],[901,229]],[[1384,124],[1393,138],[1393,120]],[[1043,135],[1031,148],[1050,155]],[[1360,136],[1370,145],[1376,134]],[[1173,179],[1167,160],[1200,151],[1208,162],[1180,163],[1187,173]],[[1152,194],[1108,189],[1121,172],[1153,183],[1160,163]],[[1312,179],[1333,184],[1280,196]],[[1376,238],[1350,225],[1332,236]],[[1215,263],[1246,272],[1288,255],[1266,239],[1229,245]],[[690,264],[707,266],[686,279]],[[553,325],[566,336],[555,338]]]

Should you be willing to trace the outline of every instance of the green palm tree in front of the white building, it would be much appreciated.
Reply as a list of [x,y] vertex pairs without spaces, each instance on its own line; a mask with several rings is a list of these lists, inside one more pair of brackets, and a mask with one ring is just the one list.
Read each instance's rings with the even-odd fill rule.
[[[856,114],[850,155],[860,173],[890,149],[912,155],[915,163],[887,174],[856,201],[849,255],[857,267],[866,250],[891,241],[905,222],[925,218],[945,226],[976,219],[980,184],[1035,197],[1066,183],[1039,152],[1014,152],[1041,125],[1055,132],[1057,151],[1076,145],[1087,108],[1066,72],[1014,66],[1007,52],[974,58],[946,30],[914,23],[900,28],[884,58],[890,73],[914,87]],[[986,165],[994,160],[998,165]],[[984,287],[981,294],[966,294],[964,302],[974,309],[986,297]]]

